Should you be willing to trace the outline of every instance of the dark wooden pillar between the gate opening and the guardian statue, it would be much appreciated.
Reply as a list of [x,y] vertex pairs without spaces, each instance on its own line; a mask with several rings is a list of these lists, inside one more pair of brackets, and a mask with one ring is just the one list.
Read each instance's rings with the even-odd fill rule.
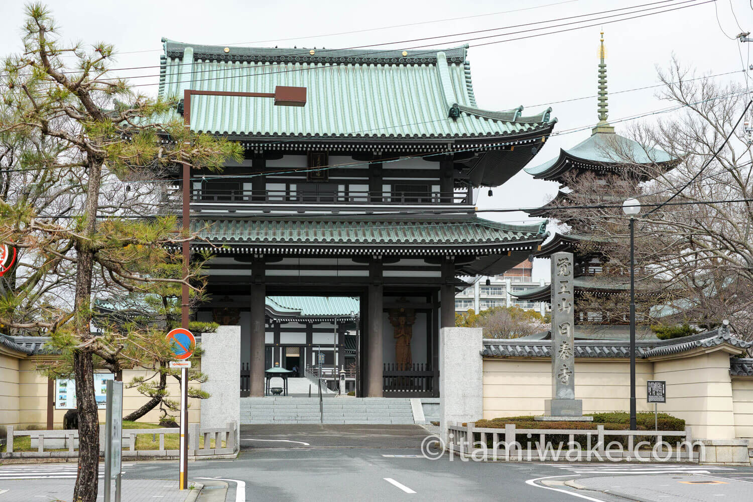
[[369,313],[367,351],[366,396],[382,397],[383,393],[383,321],[384,284],[382,281],[382,257],[373,257],[369,264]]

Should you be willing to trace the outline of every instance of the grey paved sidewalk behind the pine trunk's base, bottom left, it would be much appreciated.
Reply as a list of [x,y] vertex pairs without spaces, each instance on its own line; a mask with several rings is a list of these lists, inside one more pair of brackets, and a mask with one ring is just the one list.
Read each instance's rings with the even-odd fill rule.
[[[2,479],[0,502],[29,502],[29,500],[70,502],[75,479]],[[194,489],[178,490],[177,481],[165,479],[123,479],[120,491],[122,502],[193,502],[203,485],[189,482]],[[102,479],[99,479],[98,500],[103,500]],[[115,482],[112,483],[114,497]]]

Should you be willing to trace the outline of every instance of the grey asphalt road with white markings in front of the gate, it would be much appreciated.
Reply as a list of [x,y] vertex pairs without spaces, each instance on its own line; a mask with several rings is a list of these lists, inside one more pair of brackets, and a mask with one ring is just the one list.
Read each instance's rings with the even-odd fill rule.
[[[226,481],[227,502],[753,500],[750,467],[484,463],[447,455],[429,460],[418,448],[424,436],[425,431],[414,426],[244,427],[245,440],[261,441],[244,441],[236,460],[190,462],[188,474],[200,482],[202,478]],[[248,446],[254,443],[260,444]],[[133,462],[123,479],[176,479],[177,475],[176,461]],[[209,500],[201,496],[198,502]],[[0,502],[4,502],[2,494]]]

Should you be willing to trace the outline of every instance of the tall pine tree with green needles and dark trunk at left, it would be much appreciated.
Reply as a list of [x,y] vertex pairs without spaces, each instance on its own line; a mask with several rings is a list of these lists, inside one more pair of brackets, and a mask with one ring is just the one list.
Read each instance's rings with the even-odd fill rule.
[[[90,329],[93,294],[103,284],[145,295],[183,281],[197,289],[193,275],[144,273],[178,263],[173,250],[191,236],[181,233],[174,216],[160,214],[160,196],[136,197],[123,180],[151,186],[142,181],[159,178],[180,162],[218,169],[227,157],[240,157],[240,146],[192,134],[175,114],[175,99],[152,99],[112,77],[111,45],[62,44],[43,5],[27,6],[23,45],[23,53],[5,60],[0,134],[39,145],[24,152],[17,168],[37,174],[28,188],[43,199],[58,199],[66,187],[69,205],[61,207],[60,200],[34,204],[25,196],[0,200],[0,242],[29,257],[18,267],[17,293],[2,299],[0,322],[50,334],[61,356],[47,371],[75,377],[80,446],[73,500],[95,502],[95,365],[145,364],[165,354],[167,346],[159,330],[108,330],[95,336]],[[12,313],[50,274],[66,276],[72,296],[38,297],[34,318],[19,321]]]

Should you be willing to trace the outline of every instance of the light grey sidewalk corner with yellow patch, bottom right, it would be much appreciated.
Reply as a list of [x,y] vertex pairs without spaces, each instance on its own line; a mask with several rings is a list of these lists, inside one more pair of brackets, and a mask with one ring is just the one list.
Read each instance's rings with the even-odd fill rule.
[[753,479],[731,479],[704,474],[577,478],[566,484],[575,488],[614,494],[629,500],[639,500],[639,502],[753,500]]

